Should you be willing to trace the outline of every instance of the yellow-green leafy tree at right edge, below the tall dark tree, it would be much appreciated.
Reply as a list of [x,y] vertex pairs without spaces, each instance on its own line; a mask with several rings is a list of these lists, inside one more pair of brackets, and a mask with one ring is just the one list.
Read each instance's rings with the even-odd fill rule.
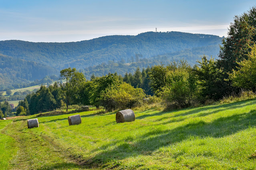
[[256,89],[256,45],[252,46],[252,51],[248,59],[237,62],[240,67],[229,74],[232,85],[235,87]]

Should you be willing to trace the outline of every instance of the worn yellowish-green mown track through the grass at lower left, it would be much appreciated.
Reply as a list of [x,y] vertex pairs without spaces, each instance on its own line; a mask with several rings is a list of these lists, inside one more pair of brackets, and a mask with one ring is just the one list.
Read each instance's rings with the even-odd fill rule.
[[44,134],[35,134],[26,127],[26,121],[18,120],[5,128],[5,134],[12,136],[18,144],[12,169],[79,169],[81,166],[67,151],[59,148],[54,139]]

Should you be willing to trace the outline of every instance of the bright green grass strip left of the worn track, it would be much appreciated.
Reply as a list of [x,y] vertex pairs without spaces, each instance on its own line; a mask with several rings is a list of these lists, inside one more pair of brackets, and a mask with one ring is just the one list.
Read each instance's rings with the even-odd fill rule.
[[[0,132],[4,133],[8,124],[12,123],[12,120],[0,121]],[[0,133],[0,169],[10,169],[10,160],[17,154],[18,147],[16,146],[14,138]]]

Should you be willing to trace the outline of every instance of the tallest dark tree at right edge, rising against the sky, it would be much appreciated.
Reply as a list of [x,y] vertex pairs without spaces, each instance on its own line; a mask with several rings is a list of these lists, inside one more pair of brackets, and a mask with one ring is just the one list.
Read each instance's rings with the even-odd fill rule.
[[237,62],[248,59],[251,46],[256,42],[256,6],[247,13],[235,16],[228,29],[228,37],[220,47],[219,65],[225,72],[239,68]]

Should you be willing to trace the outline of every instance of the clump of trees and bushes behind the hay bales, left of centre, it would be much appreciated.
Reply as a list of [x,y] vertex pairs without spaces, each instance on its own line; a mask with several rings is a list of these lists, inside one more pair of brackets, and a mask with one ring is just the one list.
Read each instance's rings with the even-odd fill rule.
[[[48,87],[41,86],[36,93],[30,93],[17,107],[17,115],[33,115],[69,105],[94,105],[107,110],[131,108],[141,105],[146,97],[143,89],[134,88],[123,82],[117,74],[92,77],[86,81],[83,73],[75,68],[63,69],[60,76],[65,83],[55,82]],[[141,77],[140,77],[141,78]]]

